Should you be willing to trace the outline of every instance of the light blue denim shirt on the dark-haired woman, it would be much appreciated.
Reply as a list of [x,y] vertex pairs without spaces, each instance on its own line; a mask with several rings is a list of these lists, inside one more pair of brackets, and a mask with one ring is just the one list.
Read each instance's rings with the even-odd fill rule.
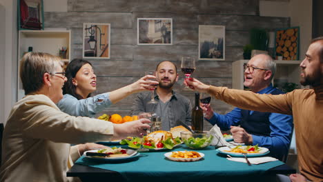
[[70,94],[64,94],[63,99],[57,103],[57,107],[71,116],[95,117],[95,114],[110,107],[111,104],[109,93],[97,94],[94,97],[80,100]]

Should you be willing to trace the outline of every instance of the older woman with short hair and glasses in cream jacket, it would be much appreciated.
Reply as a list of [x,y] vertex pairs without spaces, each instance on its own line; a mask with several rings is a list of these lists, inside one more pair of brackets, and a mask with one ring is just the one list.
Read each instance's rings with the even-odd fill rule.
[[149,128],[148,119],[113,124],[61,112],[55,103],[67,79],[58,57],[28,52],[20,78],[26,97],[14,105],[4,128],[0,181],[73,181],[66,177],[68,163],[86,145],[70,143],[140,136]]

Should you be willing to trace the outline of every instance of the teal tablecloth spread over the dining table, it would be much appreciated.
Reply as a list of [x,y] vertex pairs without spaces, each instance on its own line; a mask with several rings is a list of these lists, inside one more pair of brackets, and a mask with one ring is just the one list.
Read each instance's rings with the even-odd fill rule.
[[[126,148],[123,146],[123,148]],[[190,150],[186,146],[172,151]],[[94,168],[119,172],[126,181],[217,181],[215,179],[242,179],[258,178],[263,176],[266,170],[282,165],[282,161],[273,161],[259,165],[248,166],[246,163],[229,161],[215,151],[214,147],[206,150],[196,150],[205,154],[204,159],[194,162],[177,162],[166,159],[166,151],[141,152],[137,160],[124,163],[101,163],[81,156],[76,163],[89,165]],[[226,180],[227,181],[227,180]]]

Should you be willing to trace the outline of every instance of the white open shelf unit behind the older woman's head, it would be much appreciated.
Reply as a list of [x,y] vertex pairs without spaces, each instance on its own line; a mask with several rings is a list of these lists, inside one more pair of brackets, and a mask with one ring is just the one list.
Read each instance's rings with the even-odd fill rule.
[[[33,52],[47,52],[55,56],[59,56],[61,48],[67,48],[66,57],[62,58],[62,61],[68,63],[70,61],[70,30],[20,30],[18,63],[30,47]],[[20,78],[17,88],[17,100],[19,101],[24,96]]]

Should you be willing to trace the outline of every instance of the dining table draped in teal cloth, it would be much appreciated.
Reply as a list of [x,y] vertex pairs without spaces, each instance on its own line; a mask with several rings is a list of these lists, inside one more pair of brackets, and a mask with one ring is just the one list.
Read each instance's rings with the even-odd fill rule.
[[[128,145],[116,145],[128,148]],[[111,147],[111,146],[110,146]],[[167,152],[196,151],[204,154],[198,161],[171,161]],[[139,152],[124,160],[97,160],[81,156],[68,170],[67,176],[79,177],[81,181],[264,181],[276,174],[292,174],[296,170],[282,161],[253,164],[230,161],[228,156],[208,146],[192,150],[185,144],[173,150],[150,150]]]

